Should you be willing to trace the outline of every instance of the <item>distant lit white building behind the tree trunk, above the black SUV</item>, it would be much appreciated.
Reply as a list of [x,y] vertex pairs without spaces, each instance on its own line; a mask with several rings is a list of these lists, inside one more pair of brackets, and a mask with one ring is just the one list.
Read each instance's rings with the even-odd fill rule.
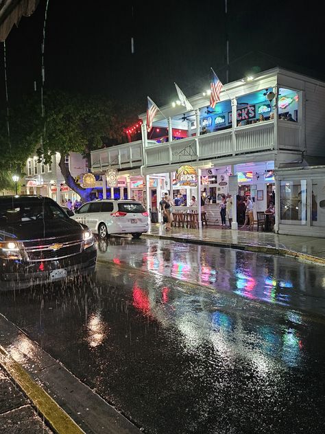
[[[51,164],[39,163],[37,155],[32,155],[26,162],[25,183],[22,192],[25,194],[40,194],[53,198],[61,204],[64,199],[74,201],[78,198],[77,194],[71,190],[64,181],[60,167],[60,154],[53,155]],[[77,152],[71,152],[66,157],[69,164],[71,175],[76,178],[88,172],[87,160]]]

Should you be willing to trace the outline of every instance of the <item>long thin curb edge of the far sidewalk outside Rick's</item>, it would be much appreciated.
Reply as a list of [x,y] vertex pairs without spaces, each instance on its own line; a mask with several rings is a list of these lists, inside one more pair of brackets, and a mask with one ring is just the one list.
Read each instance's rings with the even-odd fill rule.
[[266,253],[268,255],[290,256],[291,258],[296,258],[304,262],[309,262],[309,263],[312,262],[313,264],[317,263],[319,265],[325,265],[325,258],[317,258],[317,256],[307,255],[305,253],[299,253],[289,249],[282,249],[277,247],[252,246],[250,244],[236,244],[233,242],[229,243],[229,242],[222,242],[222,241],[208,241],[208,240],[200,240],[199,238],[180,238],[178,236],[158,235],[155,233],[143,233],[142,236],[143,238],[169,240],[174,242],[186,242],[189,244],[200,244],[200,245],[211,246],[211,247],[225,247],[228,249],[251,251],[254,253]]

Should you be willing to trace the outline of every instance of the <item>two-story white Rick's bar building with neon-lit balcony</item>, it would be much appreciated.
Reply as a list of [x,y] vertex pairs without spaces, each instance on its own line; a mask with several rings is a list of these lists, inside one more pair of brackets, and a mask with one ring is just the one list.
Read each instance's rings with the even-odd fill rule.
[[[189,98],[193,111],[177,102],[160,107],[149,133],[143,113],[141,141],[92,152],[93,172],[118,170],[120,187],[108,189],[108,197],[134,196],[154,210],[165,190],[172,196],[181,192],[187,203],[204,194],[209,198],[204,211],[215,223],[221,194],[249,193],[255,215],[276,202],[278,231],[282,202],[274,170],[304,165],[310,157],[325,159],[325,83],[276,68],[230,82],[220,96],[215,109],[204,90]],[[197,187],[176,181],[181,165],[197,170]],[[200,201],[197,207],[200,212]],[[241,223],[237,217],[234,229]]]

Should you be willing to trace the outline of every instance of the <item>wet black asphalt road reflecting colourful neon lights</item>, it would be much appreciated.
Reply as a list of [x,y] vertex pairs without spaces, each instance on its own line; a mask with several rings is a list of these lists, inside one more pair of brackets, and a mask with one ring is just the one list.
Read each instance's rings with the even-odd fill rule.
[[324,268],[152,240],[99,249],[96,284],[0,293],[0,312],[146,433],[324,433]]

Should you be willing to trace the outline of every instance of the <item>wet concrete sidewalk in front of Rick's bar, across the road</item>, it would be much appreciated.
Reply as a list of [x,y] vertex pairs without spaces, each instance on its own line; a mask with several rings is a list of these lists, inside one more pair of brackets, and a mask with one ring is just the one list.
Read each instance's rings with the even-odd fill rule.
[[325,238],[279,235],[278,233],[247,230],[232,231],[231,229],[209,227],[203,229],[173,227],[171,231],[165,231],[165,226],[161,224],[151,225],[149,232],[143,236],[288,255],[300,260],[325,265]]

